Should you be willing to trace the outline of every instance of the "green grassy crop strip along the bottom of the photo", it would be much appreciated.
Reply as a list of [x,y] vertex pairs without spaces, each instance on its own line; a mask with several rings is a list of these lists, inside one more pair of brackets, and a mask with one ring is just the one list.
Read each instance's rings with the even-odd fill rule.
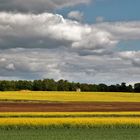
[[2,140],[139,140],[139,128],[46,128],[0,130]]

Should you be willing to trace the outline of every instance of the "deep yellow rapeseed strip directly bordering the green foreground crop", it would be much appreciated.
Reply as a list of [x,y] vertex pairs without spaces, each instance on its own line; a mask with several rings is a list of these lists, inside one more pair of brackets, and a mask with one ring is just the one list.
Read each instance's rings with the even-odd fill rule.
[[1,118],[0,126],[140,126],[140,118]]

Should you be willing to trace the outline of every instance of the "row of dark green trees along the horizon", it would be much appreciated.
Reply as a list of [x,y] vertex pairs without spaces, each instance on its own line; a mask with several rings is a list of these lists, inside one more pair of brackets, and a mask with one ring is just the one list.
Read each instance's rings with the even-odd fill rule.
[[140,92],[140,83],[126,85],[126,83],[116,85],[106,84],[86,84],[74,83],[67,80],[55,81],[53,79],[34,80],[34,81],[0,81],[0,91],[19,91],[19,90],[32,90],[32,91],[81,91],[93,92]]

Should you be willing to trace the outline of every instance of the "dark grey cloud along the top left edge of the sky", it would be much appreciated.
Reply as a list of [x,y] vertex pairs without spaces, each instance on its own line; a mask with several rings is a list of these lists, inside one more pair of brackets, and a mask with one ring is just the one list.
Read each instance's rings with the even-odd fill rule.
[[89,2],[90,0],[0,0],[0,10],[39,13]]

